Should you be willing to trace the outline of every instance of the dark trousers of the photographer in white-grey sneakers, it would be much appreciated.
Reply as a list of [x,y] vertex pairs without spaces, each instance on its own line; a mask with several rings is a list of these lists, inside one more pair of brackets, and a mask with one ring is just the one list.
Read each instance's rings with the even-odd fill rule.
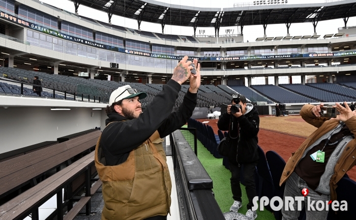
[[[246,186],[246,194],[249,199],[249,203],[247,204],[247,209],[251,209],[253,204],[252,200],[256,196],[256,185],[253,174],[255,172],[257,163],[244,163],[244,180]],[[229,161],[229,167],[231,171],[231,191],[232,191],[232,199],[235,201],[242,202],[241,196],[241,186],[240,186],[240,173],[241,167],[238,164],[231,163]]]

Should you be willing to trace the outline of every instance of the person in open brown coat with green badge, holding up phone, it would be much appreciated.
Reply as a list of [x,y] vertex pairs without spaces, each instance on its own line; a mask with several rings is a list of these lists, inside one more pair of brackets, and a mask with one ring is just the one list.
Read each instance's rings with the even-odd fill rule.
[[[356,133],[356,112],[352,112],[346,102],[344,105],[345,107],[336,103],[333,106],[340,115],[332,119],[320,117],[323,103],[316,106],[306,104],[302,107],[302,118],[318,129],[307,137],[286,163],[280,179],[280,185],[286,183],[284,198],[302,196],[301,190],[307,188],[309,194],[302,206],[309,206],[308,200],[337,200],[335,189],[338,181],[356,164],[356,140],[353,138]],[[284,211],[282,208],[282,219],[299,217],[297,203],[293,206],[295,211]],[[311,207],[308,210],[308,206],[307,219],[327,219],[327,210],[312,211]]]

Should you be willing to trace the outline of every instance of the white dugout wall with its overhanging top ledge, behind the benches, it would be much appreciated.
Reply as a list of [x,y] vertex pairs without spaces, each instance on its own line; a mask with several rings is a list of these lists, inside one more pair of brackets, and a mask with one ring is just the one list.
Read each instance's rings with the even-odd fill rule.
[[[0,96],[0,153],[105,127],[106,104]],[[53,111],[66,107],[69,111]],[[101,108],[101,110],[93,110]]]

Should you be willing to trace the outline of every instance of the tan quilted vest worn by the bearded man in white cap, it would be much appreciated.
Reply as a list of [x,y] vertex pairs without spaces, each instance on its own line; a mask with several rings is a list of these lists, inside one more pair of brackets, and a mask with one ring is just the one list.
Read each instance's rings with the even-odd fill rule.
[[140,220],[167,215],[172,183],[158,131],[116,166],[105,166],[100,139],[95,148],[95,166],[103,182],[101,219]]

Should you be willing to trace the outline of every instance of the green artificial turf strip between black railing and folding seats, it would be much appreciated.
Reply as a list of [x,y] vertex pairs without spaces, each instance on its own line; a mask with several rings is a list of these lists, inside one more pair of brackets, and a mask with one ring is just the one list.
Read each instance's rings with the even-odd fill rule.
[[[183,126],[187,127],[187,125]],[[184,136],[187,140],[192,140],[192,138],[188,138],[187,135],[193,135],[190,132],[184,132]],[[188,141],[189,142],[189,141]],[[191,146],[194,143],[189,143]],[[230,206],[233,203],[232,193],[231,193],[231,186],[230,186],[230,177],[231,173],[227,170],[222,164],[222,158],[218,159],[213,156],[203,145],[202,143],[197,140],[197,152],[198,152],[198,159],[200,160],[201,164],[205,168],[206,172],[209,174],[210,178],[213,180],[214,184],[214,195],[215,199],[219,204],[219,207],[223,213],[228,212],[230,210]],[[239,212],[242,214],[246,214],[247,208],[246,205],[248,203],[247,195],[245,186],[241,184],[242,190],[242,207],[240,208]],[[256,219],[263,219],[263,220],[275,220],[274,215],[268,211],[259,211],[257,210],[257,218]]]

